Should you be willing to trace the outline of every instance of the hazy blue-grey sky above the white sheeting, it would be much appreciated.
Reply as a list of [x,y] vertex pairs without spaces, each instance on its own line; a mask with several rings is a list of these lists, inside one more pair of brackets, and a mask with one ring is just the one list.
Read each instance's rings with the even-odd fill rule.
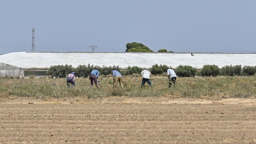
[[1,0],[0,54],[31,51],[256,52],[255,0]]

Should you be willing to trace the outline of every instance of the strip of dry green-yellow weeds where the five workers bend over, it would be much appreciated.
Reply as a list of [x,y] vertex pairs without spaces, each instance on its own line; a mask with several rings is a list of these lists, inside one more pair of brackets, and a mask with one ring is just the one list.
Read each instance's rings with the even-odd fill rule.
[[256,96],[256,77],[178,77],[176,86],[168,88],[167,77],[151,77],[153,88],[145,84],[141,88],[141,77],[123,77],[124,88],[118,84],[113,88],[112,77],[100,76],[100,88],[90,89],[88,78],[77,78],[76,86],[67,89],[66,79],[0,79],[0,95],[21,97],[234,97]]

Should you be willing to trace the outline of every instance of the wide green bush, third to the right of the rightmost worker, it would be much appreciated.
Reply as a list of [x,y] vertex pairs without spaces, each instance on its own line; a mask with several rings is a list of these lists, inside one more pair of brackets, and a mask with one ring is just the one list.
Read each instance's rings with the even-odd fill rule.
[[241,75],[242,67],[241,65],[226,65],[221,68],[220,73],[223,76],[239,76]]

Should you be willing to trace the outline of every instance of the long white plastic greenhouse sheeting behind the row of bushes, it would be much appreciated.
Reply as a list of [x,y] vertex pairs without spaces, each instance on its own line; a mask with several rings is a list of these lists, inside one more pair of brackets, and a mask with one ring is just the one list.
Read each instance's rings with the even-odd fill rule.
[[203,65],[256,65],[256,54],[218,54],[218,53],[99,53],[99,52],[13,52],[0,55],[0,62],[21,68],[50,67],[51,65],[98,65],[121,68],[138,66],[149,68],[154,64],[190,65],[202,68]]

